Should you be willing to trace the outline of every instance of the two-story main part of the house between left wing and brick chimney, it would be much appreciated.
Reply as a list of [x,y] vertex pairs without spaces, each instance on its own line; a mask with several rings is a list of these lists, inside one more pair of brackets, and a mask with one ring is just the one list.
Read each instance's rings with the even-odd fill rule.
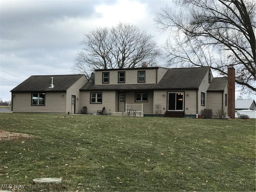
[[196,117],[204,109],[227,111],[228,78],[213,78],[210,67],[95,70],[80,89],[89,114],[105,107],[115,114],[126,105],[142,105],[144,116]]

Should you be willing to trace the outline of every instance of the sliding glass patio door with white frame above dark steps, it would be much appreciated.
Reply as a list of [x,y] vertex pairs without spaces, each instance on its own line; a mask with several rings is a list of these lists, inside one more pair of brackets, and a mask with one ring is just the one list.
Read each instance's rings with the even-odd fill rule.
[[184,111],[184,92],[168,92],[168,111]]

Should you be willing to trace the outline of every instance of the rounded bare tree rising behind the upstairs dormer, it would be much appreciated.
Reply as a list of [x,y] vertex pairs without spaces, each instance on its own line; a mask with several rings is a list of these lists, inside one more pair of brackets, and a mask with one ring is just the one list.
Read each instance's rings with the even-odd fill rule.
[[119,23],[112,28],[97,28],[84,34],[74,72],[90,76],[94,69],[134,68],[152,64],[160,56],[153,36],[131,24]]

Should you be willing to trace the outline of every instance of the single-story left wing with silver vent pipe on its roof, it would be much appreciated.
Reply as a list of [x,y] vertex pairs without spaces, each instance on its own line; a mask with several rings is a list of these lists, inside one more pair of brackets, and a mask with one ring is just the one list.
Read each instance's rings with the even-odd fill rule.
[[30,76],[11,90],[12,112],[80,113],[84,75]]

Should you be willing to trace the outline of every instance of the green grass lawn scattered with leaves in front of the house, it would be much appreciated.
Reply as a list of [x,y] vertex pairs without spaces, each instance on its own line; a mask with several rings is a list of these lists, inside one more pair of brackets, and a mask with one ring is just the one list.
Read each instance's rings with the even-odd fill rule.
[[[0,185],[25,191],[255,191],[255,119],[0,114]],[[70,116],[68,116],[70,117]],[[32,184],[40,177],[62,184]],[[17,191],[17,190],[16,190]]]

